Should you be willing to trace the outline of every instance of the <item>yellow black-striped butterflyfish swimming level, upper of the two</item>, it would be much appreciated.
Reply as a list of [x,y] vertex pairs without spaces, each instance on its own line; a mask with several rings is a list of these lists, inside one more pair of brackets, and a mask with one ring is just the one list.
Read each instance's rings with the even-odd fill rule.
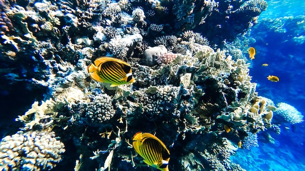
[[95,81],[110,83],[110,86],[134,83],[132,68],[125,61],[102,56],[88,66],[88,72]]

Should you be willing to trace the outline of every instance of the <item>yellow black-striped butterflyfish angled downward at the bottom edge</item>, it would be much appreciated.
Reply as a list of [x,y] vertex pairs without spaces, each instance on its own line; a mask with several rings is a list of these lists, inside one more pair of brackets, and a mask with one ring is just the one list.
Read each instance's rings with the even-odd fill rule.
[[133,136],[133,148],[149,166],[169,171],[170,151],[159,138],[150,133],[136,133]]

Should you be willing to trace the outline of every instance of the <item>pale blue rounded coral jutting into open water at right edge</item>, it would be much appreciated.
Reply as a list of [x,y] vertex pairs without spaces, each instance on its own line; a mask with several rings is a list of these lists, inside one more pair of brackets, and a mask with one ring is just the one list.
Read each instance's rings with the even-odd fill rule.
[[304,116],[295,107],[287,103],[277,103],[276,115],[280,115],[286,122],[291,124],[303,122]]

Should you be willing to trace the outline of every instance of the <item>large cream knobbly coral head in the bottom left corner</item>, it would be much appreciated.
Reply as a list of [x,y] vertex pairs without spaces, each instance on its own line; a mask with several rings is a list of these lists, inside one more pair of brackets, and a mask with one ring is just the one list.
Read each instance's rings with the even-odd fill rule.
[[1,171],[45,171],[56,167],[65,152],[54,132],[19,131],[0,141]]

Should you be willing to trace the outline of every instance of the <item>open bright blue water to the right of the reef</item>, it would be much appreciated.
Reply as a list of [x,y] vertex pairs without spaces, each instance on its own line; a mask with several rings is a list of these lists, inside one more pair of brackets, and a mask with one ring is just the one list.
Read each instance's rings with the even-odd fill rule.
[[[267,11],[250,32],[256,42],[255,59],[250,61],[252,81],[258,83],[258,95],[272,99],[274,103],[285,102],[305,113],[305,44],[292,37],[304,35],[304,0],[267,0]],[[299,21],[299,18],[300,21]],[[282,20],[277,26],[275,21]],[[286,22],[285,22],[286,21]],[[291,22],[292,21],[292,22]],[[268,23],[262,24],[262,23]],[[282,32],[274,32],[281,27]],[[272,29],[273,28],[273,29]],[[279,30],[279,29],[277,29]],[[268,67],[262,64],[268,63]],[[280,81],[270,82],[268,75],[276,75]],[[305,123],[282,124],[281,134],[270,133],[274,143],[266,142],[265,134],[258,135],[259,147],[240,149],[231,159],[249,171],[304,171],[305,170]]]

